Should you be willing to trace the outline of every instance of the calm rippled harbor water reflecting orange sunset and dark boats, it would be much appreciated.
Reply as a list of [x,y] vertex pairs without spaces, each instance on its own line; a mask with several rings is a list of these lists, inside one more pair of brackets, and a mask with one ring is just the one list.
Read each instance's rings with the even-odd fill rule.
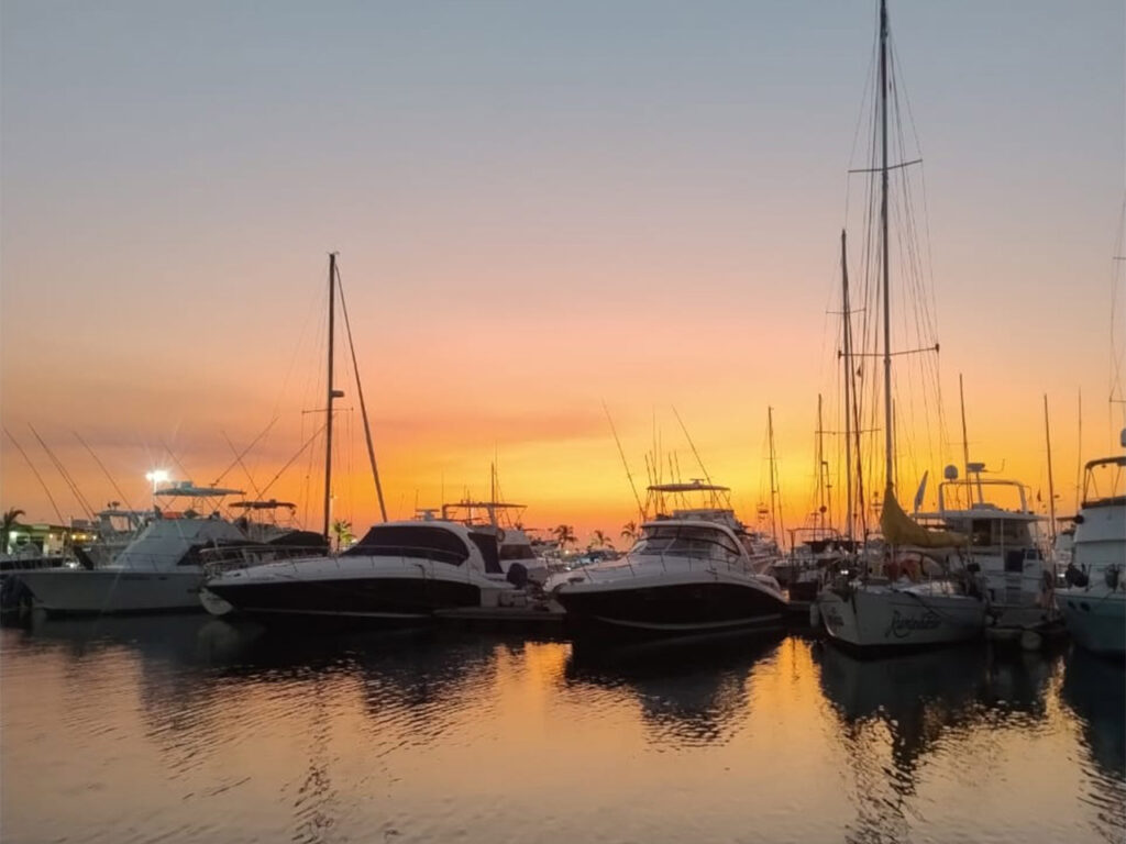
[[5,842],[1121,842],[1126,676],[798,636],[36,620],[0,647]]

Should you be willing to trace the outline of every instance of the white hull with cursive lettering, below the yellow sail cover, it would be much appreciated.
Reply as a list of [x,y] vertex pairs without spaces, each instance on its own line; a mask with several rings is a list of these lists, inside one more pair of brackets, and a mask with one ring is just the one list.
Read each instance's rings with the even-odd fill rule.
[[967,641],[985,628],[985,602],[939,584],[860,584],[844,596],[824,590],[817,598],[825,630],[860,649],[904,649]]

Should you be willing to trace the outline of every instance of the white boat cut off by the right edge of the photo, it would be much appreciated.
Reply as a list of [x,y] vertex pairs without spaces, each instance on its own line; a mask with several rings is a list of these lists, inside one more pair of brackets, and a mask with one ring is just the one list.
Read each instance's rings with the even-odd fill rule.
[[[1126,448],[1126,430],[1121,433]],[[1056,605],[1075,641],[1096,654],[1126,655],[1126,455],[1091,460],[1075,517],[1070,584]]]

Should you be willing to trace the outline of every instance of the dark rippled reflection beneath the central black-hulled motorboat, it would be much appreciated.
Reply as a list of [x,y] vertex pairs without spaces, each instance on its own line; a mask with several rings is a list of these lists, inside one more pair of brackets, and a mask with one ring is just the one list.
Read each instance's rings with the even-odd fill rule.
[[747,679],[778,648],[777,637],[659,640],[584,648],[564,670],[573,686],[626,689],[653,739],[672,746],[723,744],[747,709]]

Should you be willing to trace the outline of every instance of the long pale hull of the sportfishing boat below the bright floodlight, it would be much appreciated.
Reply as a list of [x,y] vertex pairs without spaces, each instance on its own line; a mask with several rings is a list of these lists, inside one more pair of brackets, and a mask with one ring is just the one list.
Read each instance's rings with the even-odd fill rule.
[[203,572],[143,572],[128,568],[27,572],[20,580],[50,613],[100,614],[199,609]]

